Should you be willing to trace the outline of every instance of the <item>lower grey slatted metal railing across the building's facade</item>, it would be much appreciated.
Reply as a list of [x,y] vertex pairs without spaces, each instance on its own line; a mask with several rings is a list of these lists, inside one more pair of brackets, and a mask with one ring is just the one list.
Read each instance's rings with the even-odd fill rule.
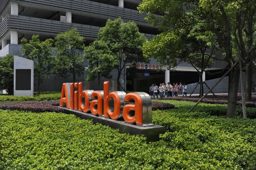
[[[33,34],[46,34],[46,35],[57,35],[59,33],[66,32],[72,27],[76,27],[77,31],[86,40],[95,40],[98,37],[100,27],[66,23],[60,21],[7,15],[4,20],[0,23],[0,39],[5,36],[9,30],[19,32],[31,32]],[[148,39],[154,37],[154,35],[145,34]]]

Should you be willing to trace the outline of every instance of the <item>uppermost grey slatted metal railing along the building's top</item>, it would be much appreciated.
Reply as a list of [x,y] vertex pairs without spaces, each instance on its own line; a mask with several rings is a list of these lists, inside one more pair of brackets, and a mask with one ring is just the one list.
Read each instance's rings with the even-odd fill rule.
[[[87,0],[2,0],[2,6],[8,2],[17,2],[20,4],[36,5],[57,10],[72,11],[76,13],[83,13],[87,16],[104,17],[115,19],[121,17],[125,21],[134,21],[137,24],[143,23],[150,25],[144,20],[146,15],[140,14],[137,10],[120,8],[113,5],[102,4]],[[0,14],[2,13],[0,9]],[[157,18],[160,17],[155,15]]]

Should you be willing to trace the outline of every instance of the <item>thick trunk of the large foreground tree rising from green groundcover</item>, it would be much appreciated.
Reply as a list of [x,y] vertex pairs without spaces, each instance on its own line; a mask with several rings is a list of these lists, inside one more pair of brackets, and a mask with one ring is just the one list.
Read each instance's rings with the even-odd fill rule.
[[239,75],[239,68],[234,68],[229,73],[228,107],[226,118],[233,118],[235,116]]

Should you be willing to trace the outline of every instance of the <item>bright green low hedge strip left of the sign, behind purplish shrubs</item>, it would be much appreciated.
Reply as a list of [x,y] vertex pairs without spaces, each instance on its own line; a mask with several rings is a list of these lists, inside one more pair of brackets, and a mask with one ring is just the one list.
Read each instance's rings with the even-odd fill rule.
[[41,92],[38,95],[37,92],[34,93],[34,97],[30,96],[12,96],[12,95],[0,95],[0,102],[9,101],[49,101],[49,100],[59,100],[61,92]]

